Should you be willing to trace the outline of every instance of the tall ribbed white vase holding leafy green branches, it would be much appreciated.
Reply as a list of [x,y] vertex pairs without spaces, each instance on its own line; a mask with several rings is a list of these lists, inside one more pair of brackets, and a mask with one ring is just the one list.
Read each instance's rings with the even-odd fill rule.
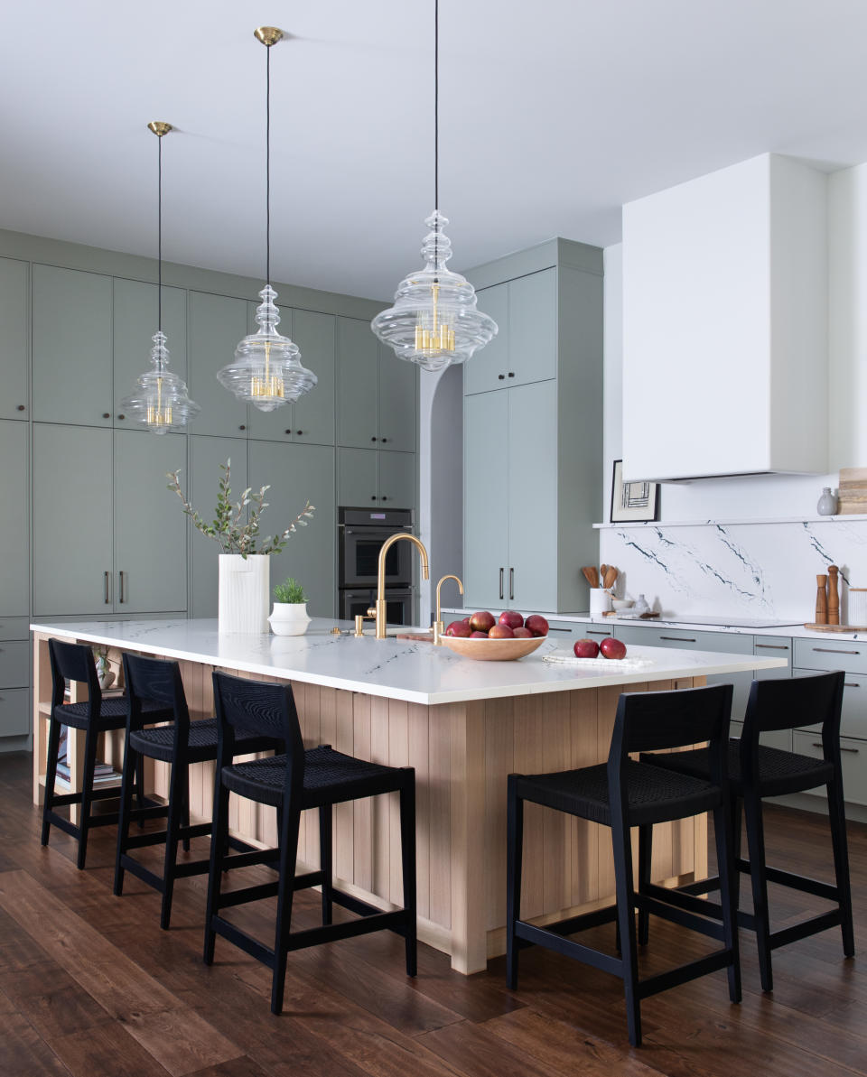
[[220,464],[216,508],[211,522],[204,519],[181,492],[180,472],[169,472],[169,490],[181,499],[183,510],[201,534],[220,544],[220,632],[265,633],[268,631],[270,554],[279,554],[298,528],[306,528],[314,506],[308,501],[283,531],[260,534],[262,513],[268,507],[263,486],[257,493],[248,487],[240,501],[232,502],[232,460]]

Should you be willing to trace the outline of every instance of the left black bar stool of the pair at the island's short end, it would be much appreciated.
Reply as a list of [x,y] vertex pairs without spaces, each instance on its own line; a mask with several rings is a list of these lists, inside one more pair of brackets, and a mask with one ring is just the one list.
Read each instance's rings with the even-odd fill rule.
[[[629,1043],[641,1044],[641,999],[705,973],[728,969],[729,998],[741,999],[738,932],[735,923],[735,878],[731,866],[731,816],[728,793],[729,715],[731,685],[681,691],[625,694],[617,704],[607,764],[550,774],[508,775],[508,850],[506,862],[506,978],[512,990],[518,982],[518,951],[543,946],[576,957],[585,964],[619,976],[626,994]],[[708,778],[675,774],[648,763],[635,763],[630,752],[683,747],[708,740],[711,761]],[[674,780],[672,780],[674,779]],[[544,805],[579,819],[611,827],[617,901],[613,907],[571,917],[540,927],[520,919],[523,802]],[[637,894],[632,883],[630,827],[647,829],[654,823],[714,813],[716,852],[723,866],[723,924],[705,919],[704,903],[672,894],[662,886]],[[654,912],[683,927],[709,935],[723,948],[666,973],[639,979],[635,947],[635,909]],[[576,932],[615,921],[620,956],[567,938]]]

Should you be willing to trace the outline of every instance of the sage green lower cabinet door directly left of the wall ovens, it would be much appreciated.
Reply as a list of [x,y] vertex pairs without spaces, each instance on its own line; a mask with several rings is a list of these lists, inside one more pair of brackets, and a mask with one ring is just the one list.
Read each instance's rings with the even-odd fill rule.
[[307,527],[299,527],[282,554],[271,557],[271,587],[293,576],[308,597],[312,616],[334,616],[337,602],[334,495],[334,449],[325,445],[251,442],[250,485],[270,485],[262,517],[262,536],[286,528],[307,501],[316,506]]

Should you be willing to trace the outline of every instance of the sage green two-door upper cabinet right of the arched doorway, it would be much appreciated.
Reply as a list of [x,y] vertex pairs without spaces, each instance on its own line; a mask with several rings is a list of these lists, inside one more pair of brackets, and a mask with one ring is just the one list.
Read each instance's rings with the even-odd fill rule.
[[557,268],[481,289],[478,306],[499,333],[466,364],[464,392],[507,389],[557,377]]

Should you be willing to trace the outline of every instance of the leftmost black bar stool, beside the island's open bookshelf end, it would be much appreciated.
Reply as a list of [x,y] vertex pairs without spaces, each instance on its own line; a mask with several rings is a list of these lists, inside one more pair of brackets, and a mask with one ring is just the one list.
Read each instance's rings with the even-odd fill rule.
[[[127,700],[124,696],[102,698],[94,653],[86,644],[48,640],[48,656],[52,669],[52,710],[48,719],[48,747],[45,761],[45,799],[42,806],[42,844],[47,845],[52,825],[71,834],[79,842],[78,867],[83,868],[87,856],[89,830],[95,826],[113,826],[118,820],[117,812],[93,814],[95,801],[117,798],[116,787],[94,788],[94,771],[99,735],[113,729],[123,729],[126,726]],[[67,681],[87,685],[87,699],[84,702],[64,702]],[[170,709],[155,703],[153,700],[145,700],[142,705],[150,722],[165,722],[171,717]],[[55,792],[61,726],[85,730],[84,772],[80,793],[58,794]],[[138,772],[137,792],[139,797],[137,813],[146,811],[141,769]],[[81,805],[79,826],[57,814],[56,809],[66,805]]]

